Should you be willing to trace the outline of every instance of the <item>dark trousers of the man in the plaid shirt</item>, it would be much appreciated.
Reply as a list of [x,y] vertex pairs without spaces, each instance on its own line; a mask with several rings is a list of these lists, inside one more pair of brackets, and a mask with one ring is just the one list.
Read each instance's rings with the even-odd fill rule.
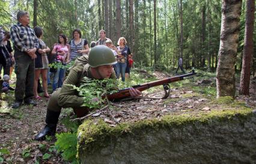
[[24,100],[28,100],[34,96],[34,73],[35,73],[35,60],[26,52],[15,50],[15,73],[16,73],[16,88],[15,88],[15,100],[22,102],[25,93]]

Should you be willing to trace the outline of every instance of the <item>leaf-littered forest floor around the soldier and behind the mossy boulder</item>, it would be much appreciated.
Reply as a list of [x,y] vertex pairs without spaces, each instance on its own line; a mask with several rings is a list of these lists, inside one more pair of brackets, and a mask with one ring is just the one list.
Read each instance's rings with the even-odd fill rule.
[[[145,78],[147,73],[141,73]],[[213,73],[214,74],[214,73]],[[175,76],[175,74],[154,71],[150,76],[156,79]],[[15,81],[15,79],[12,79]],[[239,77],[236,79],[239,87]],[[191,87],[193,86],[193,87]],[[150,118],[160,118],[163,115],[183,113],[197,114],[221,108],[212,103],[216,96],[216,79],[214,76],[204,76],[195,80],[183,80],[171,84],[171,94],[167,99],[140,99],[118,102],[111,109],[99,111],[93,117],[101,117],[110,126],[118,123],[134,122]],[[256,77],[251,79],[251,96],[236,96],[237,102],[256,109]],[[19,109],[11,109],[13,92],[2,94],[0,97],[0,163],[68,163],[56,151],[55,138],[46,141],[34,141],[34,136],[44,127],[47,99],[38,100],[37,106],[23,105]],[[144,91],[143,97],[162,97],[163,90],[156,87],[154,90]],[[114,109],[115,108],[115,109]],[[64,126],[65,118],[75,118],[72,109],[62,110],[57,133],[68,132]]]

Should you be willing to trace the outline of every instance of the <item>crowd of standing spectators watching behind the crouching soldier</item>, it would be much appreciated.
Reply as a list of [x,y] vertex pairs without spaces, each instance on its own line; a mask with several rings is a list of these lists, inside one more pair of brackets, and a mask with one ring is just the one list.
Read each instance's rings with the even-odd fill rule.
[[[91,41],[89,46],[81,30],[74,29],[72,40],[69,41],[65,34],[59,34],[57,43],[47,46],[43,41],[43,29],[40,26],[32,29],[29,23],[28,12],[19,11],[17,23],[11,26],[10,32],[0,27],[0,73],[3,70],[3,74],[0,74],[1,92],[8,93],[14,90],[13,108],[19,108],[23,102],[37,105],[35,100],[41,99],[38,94],[41,92],[43,97],[49,99],[48,85],[52,85],[53,91],[61,88],[69,71],[67,64],[80,56],[88,55],[95,46],[105,45],[112,50],[117,61],[112,65],[117,79],[121,76],[124,82],[129,77],[133,59],[126,38],[120,37],[116,47],[101,29],[99,40]],[[13,70],[16,73],[15,88],[11,88],[9,84]]]

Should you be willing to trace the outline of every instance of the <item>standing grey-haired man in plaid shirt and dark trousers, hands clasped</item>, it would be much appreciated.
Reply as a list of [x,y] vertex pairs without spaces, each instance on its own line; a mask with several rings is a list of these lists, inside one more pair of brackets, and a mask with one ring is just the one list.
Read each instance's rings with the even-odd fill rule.
[[[13,108],[19,108],[23,100],[28,105],[37,105],[31,98],[34,96],[34,59],[37,57],[35,51],[38,49],[38,40],[34,30],[29,27],[28,12],[19,11],[17,20],[17,24],[11,26],[10,29],[17,77]],[[25,97],[23,98],[24,93]]]

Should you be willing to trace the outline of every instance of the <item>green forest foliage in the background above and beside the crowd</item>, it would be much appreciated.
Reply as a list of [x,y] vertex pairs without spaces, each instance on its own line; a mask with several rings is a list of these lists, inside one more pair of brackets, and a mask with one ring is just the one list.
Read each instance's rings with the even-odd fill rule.
[[[126,5],[127,2],[127,5]],[[204,4],[206,2],[206,4]],[[127,40],[127,45],[135,53],[135,67],[153,66],[154,50],[157,52],[156,65],[160,69],[167,68],[173,70],[177,67],[177,58],[180,51],[180,2],[175,0],[157,1],[157,30],[156,47],[154,47],[153,32],[153,1],[134,1],[134,25],[135,36],[131,38],[129,32],[129,2],[121,1],[121,36]],[[31,24],[33,21],[33,1],[0,1],[0,25],[5,29],[16,23],[15,15],[18,10],[26,10],[30,14]],[[202,13],[203,8],[206,13],[206,26],[203,32]],[[99,38],[99,29],[106,29],[104,16],[102,14],[103,4],[97,1],[38,1],[37,24],[44,30],[43,40],[49,47],[58,41],[58,34],[63,33],[69,38],[73,38],[73,29],[80,28],[82,38],[86,38],[88,43]],[[104,10],[103,10],[104,11]],[[112,2],[113,20],[117,19],[117,9]],[[186,67],[201,67],[202,59],[208,61],[208,56],[212,55],[214,60],[219,50],[219,34],[221,26],[221,1],[183,1],[183,61]],[[245,34],[245,1],[241,12],[241,26],[239,35],[238,61],[237,68],[242,61],[243,38]],[[100,24],[100,25],[99,25]],[[114,44],[117,43],[115,23],[111,23],[111,38]],[[204,33],[204,41],[202,35]],[[254,32],[254,38],[256,34]],[[69,39],[70,40],[70,39]],[[134,42],[134,46],[133,43]],[[194,61],[193,61],[194,60]],[[212,61],[211,61],[212,62]],[[216,67],[213,61],[213,67]],[[203,67],[206,65],[203,65]]]

